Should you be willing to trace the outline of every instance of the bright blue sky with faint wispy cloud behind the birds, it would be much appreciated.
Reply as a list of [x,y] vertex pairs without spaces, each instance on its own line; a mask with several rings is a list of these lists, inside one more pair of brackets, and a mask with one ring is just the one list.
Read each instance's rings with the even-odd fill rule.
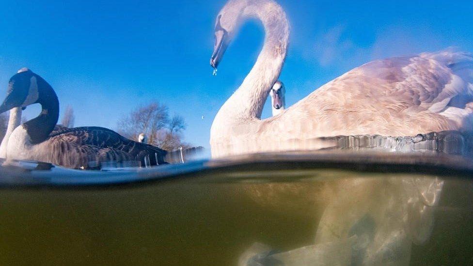
[[[156,99],[184,116],[186,141],[209,147],[213,117],[264,38],[258,22],[245,24],[213,77],[212,30],[225,2],[1,0],[0,95],[26,66],[54,87],[62,110],[74,108],[76,126],[116,129],[121,116]],[[450,46],[473,52],[473,1],[278,2],[291,24],[281,75],[287,105],[375,59]]]

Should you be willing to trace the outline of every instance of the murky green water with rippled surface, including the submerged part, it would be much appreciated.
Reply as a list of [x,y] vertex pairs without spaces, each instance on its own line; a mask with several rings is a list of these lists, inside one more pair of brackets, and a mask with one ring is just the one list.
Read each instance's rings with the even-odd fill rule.
[[1,168],[2,265],[473,261],[473,164],[460,156],[325,151],[47,169]]

